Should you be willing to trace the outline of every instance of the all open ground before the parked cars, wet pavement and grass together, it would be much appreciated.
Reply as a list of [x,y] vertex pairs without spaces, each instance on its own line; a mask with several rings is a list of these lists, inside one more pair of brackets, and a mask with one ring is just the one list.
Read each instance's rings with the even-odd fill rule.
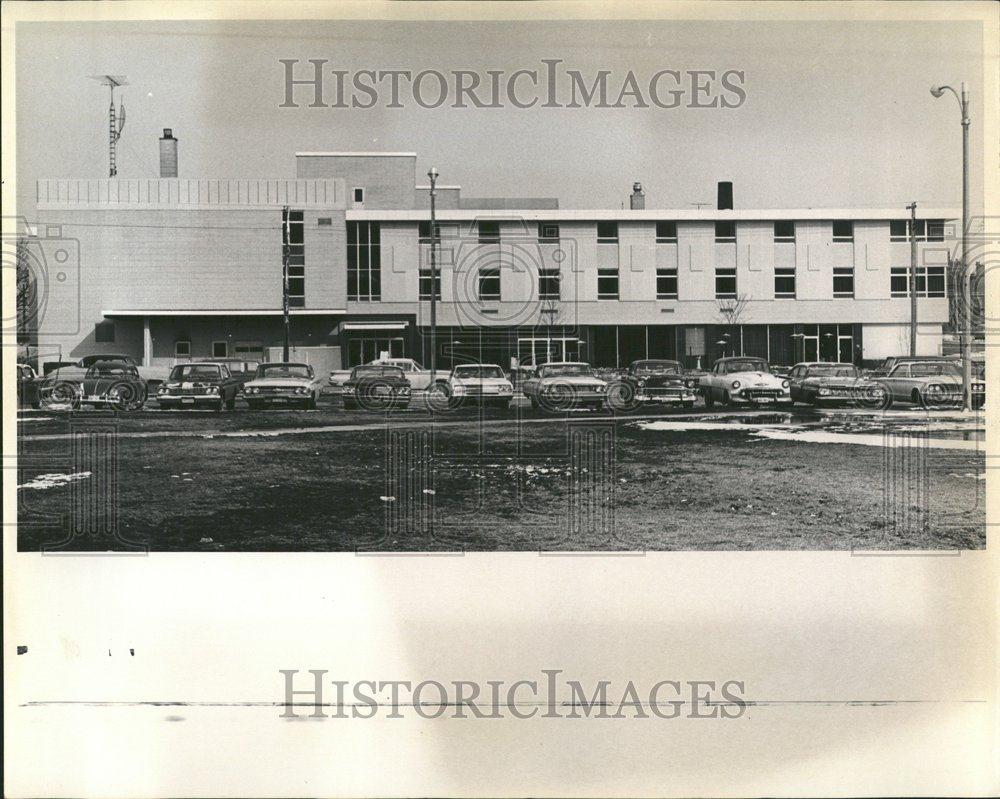
[[315,410],[18,418],[24,550],[985,545],[982,414],[373,413],[324,393]]

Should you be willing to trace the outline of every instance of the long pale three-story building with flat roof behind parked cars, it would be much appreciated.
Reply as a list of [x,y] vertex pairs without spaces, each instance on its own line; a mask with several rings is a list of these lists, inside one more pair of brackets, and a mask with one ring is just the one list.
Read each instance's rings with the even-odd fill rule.
[[[298,153],[287,180],[43,180],[41,361],[380,354],[439,367],[549,359],[708,366],[725,354],[871,361],[908,352],[907,211],[566,210],[429,186],[415,153]],[[720,189],[725,184],[720,184]],[[918,349],[948,322],[951,210],[921,210]],[[57,256],[57,253],[63,256]],[[62,260],[60,260],[62,258]],[[60,277],[61,276],[61,277]],[[280,350],[279,350],[280,351]]]

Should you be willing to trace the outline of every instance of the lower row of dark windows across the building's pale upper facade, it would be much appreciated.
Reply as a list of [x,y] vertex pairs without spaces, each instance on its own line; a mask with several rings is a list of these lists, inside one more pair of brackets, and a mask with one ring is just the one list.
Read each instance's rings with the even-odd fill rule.
[[[890,292],[893,297],[909,296],[909,267],[893,267],[890,275]],[[597,299],[619,298],[618,270],[597,270]],[[500,294],[499,267],[482,267],[477,275],[478,299],[497,301]],[[441,299],[441,274],[436,276],[437,299]],[[735,267],[717,267],[715,270],[716,299],[735,299],[737,296]],[[775,299],[795,299],[795,269],[779,267],[774,270]],[[833,270],[833,296],[850,299],[854,296],[854,267],[838,266]],[[944,297],[945,271],[943,266],[920,267],[917,270],[917,296]],[[542,269],[538,275],[538,297],[542,300],[560,298],[559,269]],[[420,270],[420,299],[431,298],[431,270]],[[677,269],[666,267],[656,270],[656,299],[676,300],[678,294]]]

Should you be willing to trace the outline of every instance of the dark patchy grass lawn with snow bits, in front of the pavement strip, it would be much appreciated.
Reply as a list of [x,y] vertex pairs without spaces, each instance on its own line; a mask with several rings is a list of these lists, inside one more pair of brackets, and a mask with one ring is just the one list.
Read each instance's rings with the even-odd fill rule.
[[[426,436],[415,428],[403,440],[409,450],[395,449],[377,427],[120,437],[118,534],[154,551],[985,546],[981,451],[926,450],[927,523],[913,521],[919,503],[904,501],[892,507],[901,504],[896,511],[908,521],[895,525],[883,486],[899,477],[886,471],[881,447],[769,440],[745,429],[596,424],[614,430],[613,458],[602,449],[607,441],[571,447],[563,420],[470,423]],[[66,451],[65,440],[23,442],[18,483],[67,471],[53,465]],[[73,483],[22,489],[19,548],[65,538],[74,502],[93,503],[104,485],[95,470]],[[117,548],[105,533],[65,546]]]

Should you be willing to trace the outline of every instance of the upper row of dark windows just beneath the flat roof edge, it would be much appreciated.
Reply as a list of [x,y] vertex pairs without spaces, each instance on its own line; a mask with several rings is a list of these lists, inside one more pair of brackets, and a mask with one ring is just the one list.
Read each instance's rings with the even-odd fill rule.
[[[358,223],[350,223],[358,224]],[[367,224],[367,223],[363,223]],[[889,238],[891,241],[909,241],[909,221],[905,219],[892,220],[889,222]],[[348,225],[350,227],[350,225]],[[458,223],[438,223],[437,235],[440,239],[445,237],[458,237]],[[419,223],[419,236],[422,244],[429,244],[431,241],[431,223],[429,221]],[[914,236],[917,241],[944,241],[944,220],[943,219],[918,219],[914,223]],[[850,220],[835,220],[833,222],[833,240],[835,242],[854,241],[854,222]],[[480,244],[497,244],[500,242],[500,223],[491,220],[482,220],[478,223],[478,241]],[[736,241],[735,222],[716,222],[715,241],[717,244],[732,244]],[[795,222],[781,221],[774,223],[775,243],[795,242]],[[558,244],[559,224],[557,222],[538,223],[538,243]],[[597,243],[617,244],[618,243],[618,223],[598,222],[597,223]],[[656,243],[676,244],[677,243],[677,223],[660,221],[656,223]]]

